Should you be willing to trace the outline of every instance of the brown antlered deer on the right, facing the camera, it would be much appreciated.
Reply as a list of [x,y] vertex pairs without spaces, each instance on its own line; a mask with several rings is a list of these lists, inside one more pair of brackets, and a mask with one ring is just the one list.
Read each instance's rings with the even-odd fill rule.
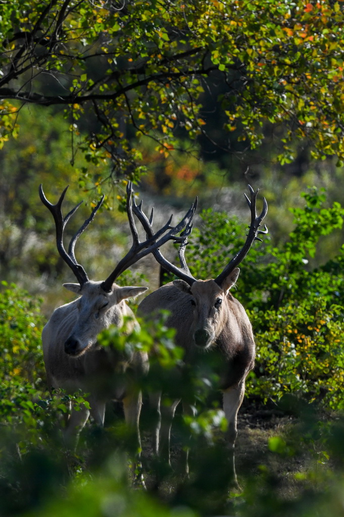
[[[229,261],[222,272],[210,280],[197,280],[191,275],[185,260],[187,237],[192,227],[185,229],[187,235],[179,248],[180,266],[169,262],[161,253],[159,247],[152,251],[161,268],[177,277],[156,291],[149,294],[140,302],[137,316],[154,318],[157,310],[169,311],[166,322],[168,327],[176,329],[175,342],[184,349],[184,364],[193,367],[195,358],[200,354],[207,361],[217,358],[219,375],[218,388],[223,393],[223,411],[227,420],[226,444],[228,447],[229,472],[233,485],[238,486],[234,464],[234,445],[237,438],[237,416],[245,392],[245,379],[254,368],[255,340],[253,330],[244,307],[234,298],[230,290],[239,277],[238,265],[242,262],[255,240],[261,239],[258,234],[268,233],[267,226],[259,230],[268,212],[268,204],[263,198],[261,214],[257,216],[256,199],[258,190],[254,191],[248,185],[250,199],[245,199],[251,211],[251,224],[245,244],[242,249]],[[140,206],[134,207],[134,213],[143,225],[147,237],[153,236],[153,214],[148,219]],[[206,355],[207,354],[207,355]],[[180,399],[170,405],[162,404],[162,393],[151,394],[151,401],[156,415],[153,436],[155,454],[170,465],[170,430]],[[184,400],[183,400],[184,399]],[[189,397],[182,397],[184,415],[192,415],[194,409]],[[189,474],[187,451],[184,458],[184,472]]]

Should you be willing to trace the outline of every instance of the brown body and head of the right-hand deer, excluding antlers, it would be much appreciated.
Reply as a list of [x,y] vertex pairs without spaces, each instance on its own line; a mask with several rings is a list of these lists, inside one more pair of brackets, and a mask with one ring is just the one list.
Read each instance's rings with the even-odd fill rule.
[[[227,439],[231,451],[237,437],[237,414],[242,403],[245,378],[254,366],[255,341],[251,323],[241,303],[230,293],[239,269],[234,269],[225,286],[214,280],[198,280],[191,286],[183,280],[170,282],[148,295],[139,305],[137,314],[152,317],[156,309],[170,312],[166,325],[176,329],[176,344],[184,349],[184,362],[189,366],[198,363],[199,355],[211,362],[219,377],[218,388],[223,391],[223,408],[228,421]],[[220,301],[221,300],[221,301]],[[159,407],[160,395],[153,397],[153,404],[160,418],[154,432],[154,448],[161,448],[169,462],[170,426],[179,401]],[[191,411],[190,404],[183,401],[184,412]],[[167,423],[166,423],[167,422]],[[187,459],[185,459],[187,461]],[[234,459],[232,459],[235,479]],[[188,466],[185,465],[187,471]]]

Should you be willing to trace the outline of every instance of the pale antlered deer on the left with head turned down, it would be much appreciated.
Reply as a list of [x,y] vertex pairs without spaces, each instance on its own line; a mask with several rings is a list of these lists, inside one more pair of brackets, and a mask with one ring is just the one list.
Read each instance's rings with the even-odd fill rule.
[[133,244],[105,280],[93,281],[89,280],[84,267],[76,261],[74,248],[77,239],[95,217],[104,196],[71,238],[66,251],[63,244],[66,224],[82,204],[81,202],[76,205],[64,217],[61,205],[67,189],[68,187],[61,193],[58,202],[53,205],[46,199],[42,185],[39,187],[40,199],[55,221],[58,253],[77,279],[77,283],[63,285],[79,296],[55,309],[43,328],[42,347],[46,378],[50,388],[61,388],[67,393],[81,389],[88,393],[88,404],[82,405],[81,408],[70,407],[64,430],[64,440],[68,448],[76,447],[78,436],[90,415],[96,424],[103,427],[106,402],[118,400],[123,403],[124,418],[128,428],[136,433],[137,450],[140,450],[138,426],[142,394],[136,387],[135,381],[140,375],[147,373],[148,355],[146,352],[134,351],[124,356],[112,344],[101,347],[97,342],[97,336],[111,325],[121,327],[123,321],[128,318],[130,322],[127,325],[127,332],[139,327],[126,300],[143,294],[147,287],[121,287],[115,283],[115,280],[123,271],[151,253],[157,246],[163,245],[170,239],[182,242],[184,237],[178,234],[184,226],[191,223],[195,209],[192,207],[176,226],[171,226],[173,217],[171,216],[157,233],[141,242],[133,218],[133,187],[129,182],[126,208]]

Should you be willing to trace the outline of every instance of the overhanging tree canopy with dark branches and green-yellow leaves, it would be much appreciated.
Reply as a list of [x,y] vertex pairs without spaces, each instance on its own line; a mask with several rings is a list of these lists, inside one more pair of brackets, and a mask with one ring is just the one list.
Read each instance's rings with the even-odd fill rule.
[[62,106],[73,146],[137,177],[138,138],[166,156],[180,138],[210,138],[207,98],[221,84],[226,150],[259,146],[269,123],[284,128],[281,163],[296,138],[341,164],[343,20],[329,0],[5,1],[0,144],[23,104]]

